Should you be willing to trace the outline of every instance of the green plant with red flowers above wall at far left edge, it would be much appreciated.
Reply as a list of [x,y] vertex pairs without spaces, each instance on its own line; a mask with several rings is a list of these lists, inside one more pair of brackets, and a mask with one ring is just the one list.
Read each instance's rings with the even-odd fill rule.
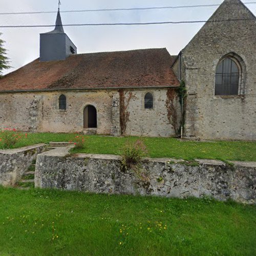
[[24,136],[21,133],[17,133],[15,129],[5,128],[0,134],[0,147],[3,149],[12,148],[23,137]]

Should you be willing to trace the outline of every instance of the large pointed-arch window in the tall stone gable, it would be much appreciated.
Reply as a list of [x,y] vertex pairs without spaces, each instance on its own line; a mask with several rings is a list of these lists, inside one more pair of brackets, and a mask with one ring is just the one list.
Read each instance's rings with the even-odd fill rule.
[[240,71],[238,62],[226,57],[216,69],[215,95],[238,95]]

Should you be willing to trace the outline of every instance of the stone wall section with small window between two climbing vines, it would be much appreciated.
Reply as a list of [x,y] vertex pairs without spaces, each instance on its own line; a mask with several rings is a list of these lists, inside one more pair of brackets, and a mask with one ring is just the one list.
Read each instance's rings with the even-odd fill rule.
[[[169,89],[174,90],[174,89]],[[151,93],[154,99],[153,109],[144,108],[144,97],[146,93]],[[129,117],[126,123],[125,135],[168,137],[175,136],[173,116],[177,115],[176,125],[180,121],[180,103],[177,94],[173,91],[173,106],[166,106],[167,89],[148,89],[125,91],[125,104]],[[168,111],[170,120],[168,119]]]

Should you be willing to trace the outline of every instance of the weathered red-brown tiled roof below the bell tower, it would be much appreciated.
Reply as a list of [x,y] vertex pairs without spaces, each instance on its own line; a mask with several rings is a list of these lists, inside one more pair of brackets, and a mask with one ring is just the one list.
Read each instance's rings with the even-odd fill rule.
[[179,86],[163,49],[71,55],[28,65],[0,79],[0,91]]

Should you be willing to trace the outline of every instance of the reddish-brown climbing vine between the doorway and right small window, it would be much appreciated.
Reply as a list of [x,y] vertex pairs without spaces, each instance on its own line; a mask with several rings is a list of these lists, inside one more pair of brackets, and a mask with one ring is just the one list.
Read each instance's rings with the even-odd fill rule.
[[125,103],[125,93],[123,89],[120,89],[119,91],[119,97],[120,97],[120,127],[121,127],[121,135],[125,133],[127,121],[129,121],[130,112],[127,111],[127,108],[129,106],[130,100],[134,97],[132,92],[129,92],[129,96],[126,99]]

